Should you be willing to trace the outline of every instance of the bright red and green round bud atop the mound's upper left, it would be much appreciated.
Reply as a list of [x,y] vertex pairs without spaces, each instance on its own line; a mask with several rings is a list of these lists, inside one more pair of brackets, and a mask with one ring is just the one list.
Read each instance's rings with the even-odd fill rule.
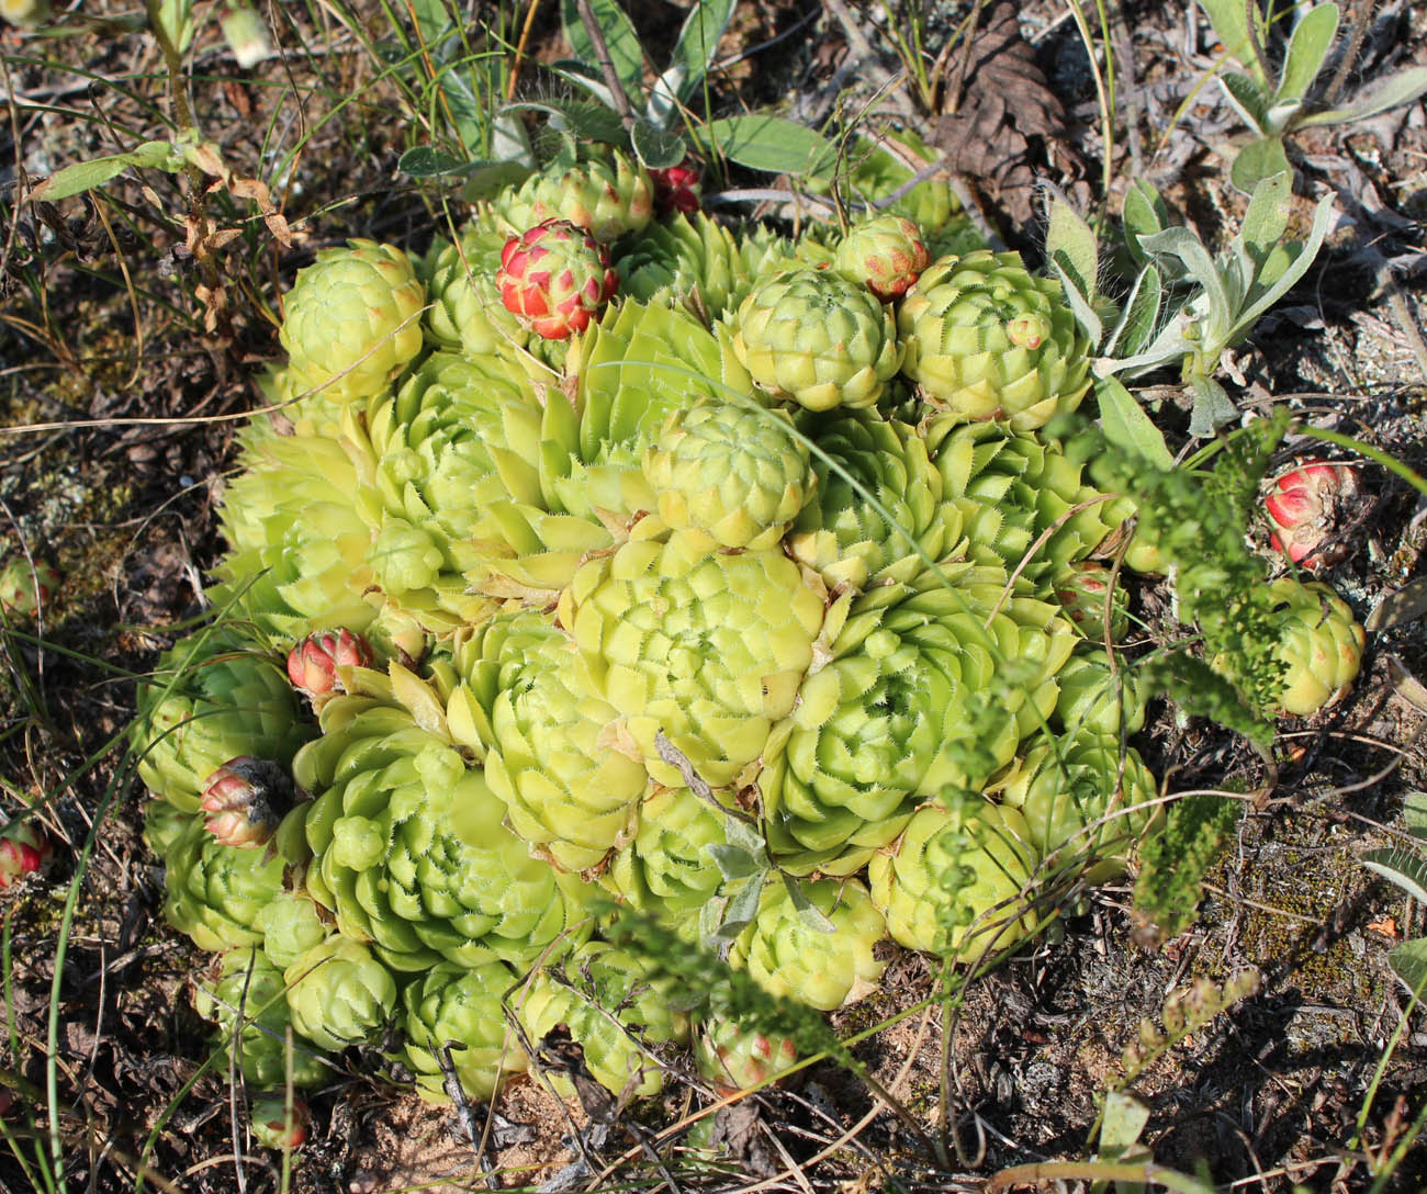
[[501,302],[545,340],[567,340],[589,321],[619,288],[609,250],[578,224],[547,220],[501,250],[495,275]]

